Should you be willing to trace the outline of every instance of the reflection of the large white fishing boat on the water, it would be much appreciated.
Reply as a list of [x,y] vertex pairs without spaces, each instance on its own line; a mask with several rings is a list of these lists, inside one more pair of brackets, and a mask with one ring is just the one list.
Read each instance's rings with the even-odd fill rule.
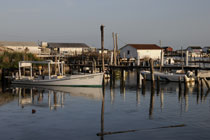
[[59,107],[64,107],[66,94],[92,100],[102,100],[103,98],[101,88],[12,85],[11,89],[13,95],[18,96],[18,105],[22,108],[27,105],[34,105],[56,110]]

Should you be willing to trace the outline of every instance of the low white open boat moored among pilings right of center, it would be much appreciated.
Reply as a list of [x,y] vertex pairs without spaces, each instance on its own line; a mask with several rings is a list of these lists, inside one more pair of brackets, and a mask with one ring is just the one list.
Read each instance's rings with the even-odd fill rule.
[[[142,75],[146,76],[146,80],[151,80],[150,71],[142,71]],[[195,78],[192,77],[190,74],[181,74],[181,73],[163,73],[154,71],[154,77],[155,80],[157,80],[157,77],[160,77],[160,81],[171,81],[171,82],[179,82],[179,79],[181,78],[181,81],[184,82],[186,80],[187,82],[194,82]]]

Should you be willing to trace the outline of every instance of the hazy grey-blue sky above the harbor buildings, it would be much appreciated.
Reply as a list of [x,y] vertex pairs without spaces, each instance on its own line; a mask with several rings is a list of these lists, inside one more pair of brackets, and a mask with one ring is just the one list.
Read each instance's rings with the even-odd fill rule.
[[0,0],[0,41],[210,46],[210,0]]

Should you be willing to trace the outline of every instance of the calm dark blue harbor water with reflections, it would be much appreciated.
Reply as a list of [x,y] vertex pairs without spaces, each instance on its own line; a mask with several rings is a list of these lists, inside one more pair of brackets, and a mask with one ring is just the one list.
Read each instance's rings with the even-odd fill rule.
[[[66,139],[183,139],[210,138],[210,97],[190,85],[161,83],[151,94],[136,89],[135,73],[128,73],[126,87],[102,88],[17,87],[0,93],[2,140]],[[104,95],[104,96],[103,96]],[[102,118],[102,120],[101,120]],[[171,127],[171,126],[180,127]],[[135,132],[126,132],[137,130]],[[97,133],[118,132],[97,136]]]

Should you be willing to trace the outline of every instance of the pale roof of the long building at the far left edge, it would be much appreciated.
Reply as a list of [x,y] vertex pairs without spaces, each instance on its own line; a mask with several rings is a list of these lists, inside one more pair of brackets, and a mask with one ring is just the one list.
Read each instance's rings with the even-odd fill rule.
[[38,46],[36,42],[0,41],[0,46]]

